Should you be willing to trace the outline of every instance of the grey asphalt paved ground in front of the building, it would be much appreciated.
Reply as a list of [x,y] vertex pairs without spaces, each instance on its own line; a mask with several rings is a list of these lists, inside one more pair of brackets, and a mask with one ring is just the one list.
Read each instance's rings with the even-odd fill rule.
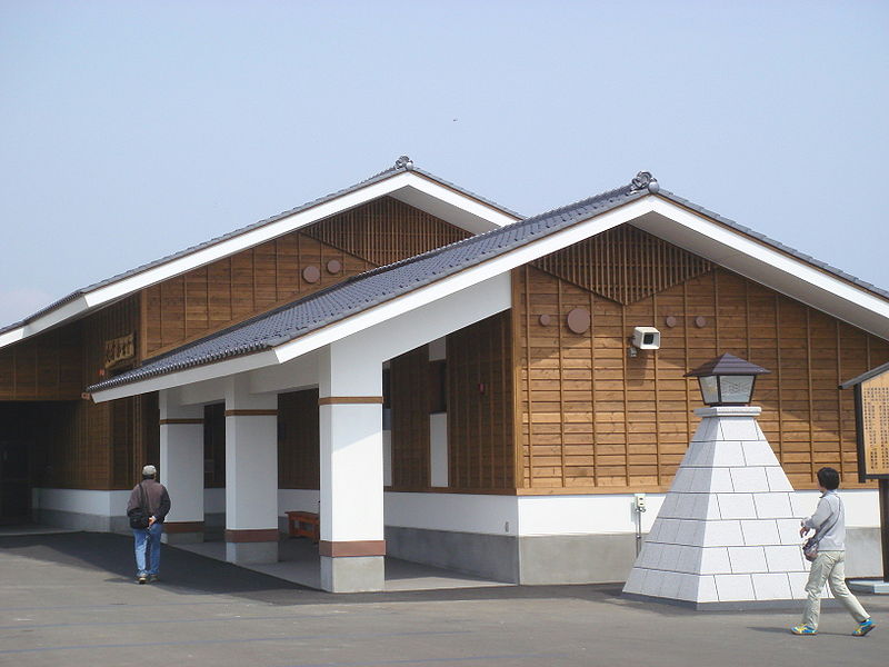
[[116,535],[0,537],[0,665],[260,667],[819,665],[886,667],[883,627],[849,636],[826,610],[817,637],[782,611],[696,613],[623,600],[617,586],[333,596],[167,549],[163,581],[132,581]]

